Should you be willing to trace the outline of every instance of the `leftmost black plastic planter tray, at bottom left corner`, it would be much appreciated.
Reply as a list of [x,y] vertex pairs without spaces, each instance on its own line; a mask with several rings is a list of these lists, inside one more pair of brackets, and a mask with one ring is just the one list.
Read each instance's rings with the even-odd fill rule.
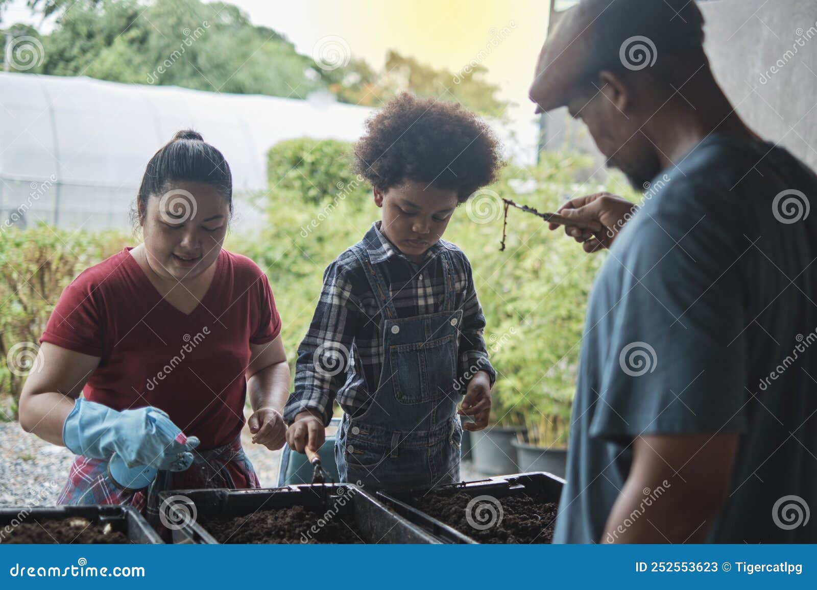
[[[20,514],[25,512],[25,517]],[[113,530],[124,533],[131,543],[163,544],[164,541],[153,530],[136,508],[115,504],[95,506],[6,506],[0,508],[0,528],[13,520],[34,522],[39,520],[65,520],[66,518],[86,518],[95,524],[110,524]]]

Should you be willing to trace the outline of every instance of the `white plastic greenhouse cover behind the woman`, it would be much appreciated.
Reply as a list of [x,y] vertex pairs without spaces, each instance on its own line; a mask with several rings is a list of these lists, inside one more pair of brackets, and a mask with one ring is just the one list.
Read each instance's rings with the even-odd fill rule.
[[266,152],[296,137],[354,141],[372,109],[84,77],[0,73],[0,225],[126,228],[150,157],[193,128],[233,171],[235,224],[257,224],[241,193],[266,189]]

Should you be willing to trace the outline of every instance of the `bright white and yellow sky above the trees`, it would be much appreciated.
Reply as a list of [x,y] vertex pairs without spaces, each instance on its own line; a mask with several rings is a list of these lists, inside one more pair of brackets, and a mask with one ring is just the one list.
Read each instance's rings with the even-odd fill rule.
[[[229,0],[228,0],[229,1]],[[313,55],[316,44],[340,38],[350,54],[376,69],[390,49],[437,69],[456,73],[478,60],[498,95],[525,107],[539,48],[547,33],[547,0],[232,0],[261,24],[286,35],[297,51]],[[3,24],[39,25],[15,0]],[[50,24],[42,29],[47,31]],[[331,40],[329,41],[331,42]],[[480,54],[482,58],[480,58]]]

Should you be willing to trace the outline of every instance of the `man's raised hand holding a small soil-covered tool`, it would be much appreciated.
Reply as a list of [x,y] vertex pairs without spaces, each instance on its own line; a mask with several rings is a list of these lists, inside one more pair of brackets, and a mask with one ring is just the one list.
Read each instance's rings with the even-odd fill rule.
[[[622,197],[610,193],[595,193],[587,197],[570,199],[556,212],[570,220],[601,224],[600,232],[565,226],[565,233],[576,242],[582,243],[585,252],[596,252],[610,247],[618,232],[637,209],[634,203]],[[552,230],[559,225],[549,224],[547,227]]]

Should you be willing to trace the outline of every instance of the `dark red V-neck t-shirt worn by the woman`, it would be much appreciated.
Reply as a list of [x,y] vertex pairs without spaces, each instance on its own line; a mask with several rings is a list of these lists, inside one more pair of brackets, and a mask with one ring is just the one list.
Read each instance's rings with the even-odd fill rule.
[[65,287],[40,342],[101,357],[84,397],[114,410],[155,406],[212,449],[244,424],[249,344],[281,330],[266,275],[221,250],[216,273],[190,315],[159,295],[125,248]]

